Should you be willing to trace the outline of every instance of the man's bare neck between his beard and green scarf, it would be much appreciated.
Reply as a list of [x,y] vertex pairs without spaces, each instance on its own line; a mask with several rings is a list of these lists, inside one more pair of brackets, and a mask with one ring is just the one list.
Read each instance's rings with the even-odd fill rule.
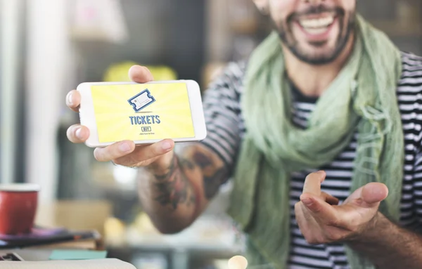
[[290,81],[303,95],[319,97],[328,88],[352,54],[354,37],[350,38],[342,53],[332,63],[326,65],[310,65],[302,62],[285,46],[283,52],[286,59],[286,70]]

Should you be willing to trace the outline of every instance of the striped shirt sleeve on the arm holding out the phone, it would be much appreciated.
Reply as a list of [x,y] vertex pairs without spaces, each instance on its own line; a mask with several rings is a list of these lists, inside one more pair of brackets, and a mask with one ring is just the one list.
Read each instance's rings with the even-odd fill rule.
[[240,64],[230,63],[203,95],[207,137],[201,143],[222,158],[230,173],[241,143],[239,90],[243,73]]

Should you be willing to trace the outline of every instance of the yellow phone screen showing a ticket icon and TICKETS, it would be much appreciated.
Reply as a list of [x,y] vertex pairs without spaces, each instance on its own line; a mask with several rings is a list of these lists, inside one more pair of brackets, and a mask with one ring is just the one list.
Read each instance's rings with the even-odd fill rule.
[[193,138],[184,83],[91,86],[100,143]]

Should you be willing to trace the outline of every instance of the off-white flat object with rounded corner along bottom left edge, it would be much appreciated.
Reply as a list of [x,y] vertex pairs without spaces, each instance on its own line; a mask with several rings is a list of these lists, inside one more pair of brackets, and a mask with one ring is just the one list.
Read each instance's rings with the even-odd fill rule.
[[136,269],[115,258],[85,261],[0,261],[1,269]]

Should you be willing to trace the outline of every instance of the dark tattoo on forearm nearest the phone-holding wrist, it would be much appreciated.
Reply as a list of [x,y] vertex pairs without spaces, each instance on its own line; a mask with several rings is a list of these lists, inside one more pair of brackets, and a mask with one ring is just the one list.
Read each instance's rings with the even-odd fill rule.
[[187,206],[195,204],[195,195],[188,179],[184,176],[182,163],[186,163],[186,161],[179,161],[179,158],[174,155],[169,171],[165,175],[155,175],[157,181],[154,185],[159,194],[155,197],[155,201],[162,206],[170,205],[173,210],[176,210],[179,204],[186,204]]

